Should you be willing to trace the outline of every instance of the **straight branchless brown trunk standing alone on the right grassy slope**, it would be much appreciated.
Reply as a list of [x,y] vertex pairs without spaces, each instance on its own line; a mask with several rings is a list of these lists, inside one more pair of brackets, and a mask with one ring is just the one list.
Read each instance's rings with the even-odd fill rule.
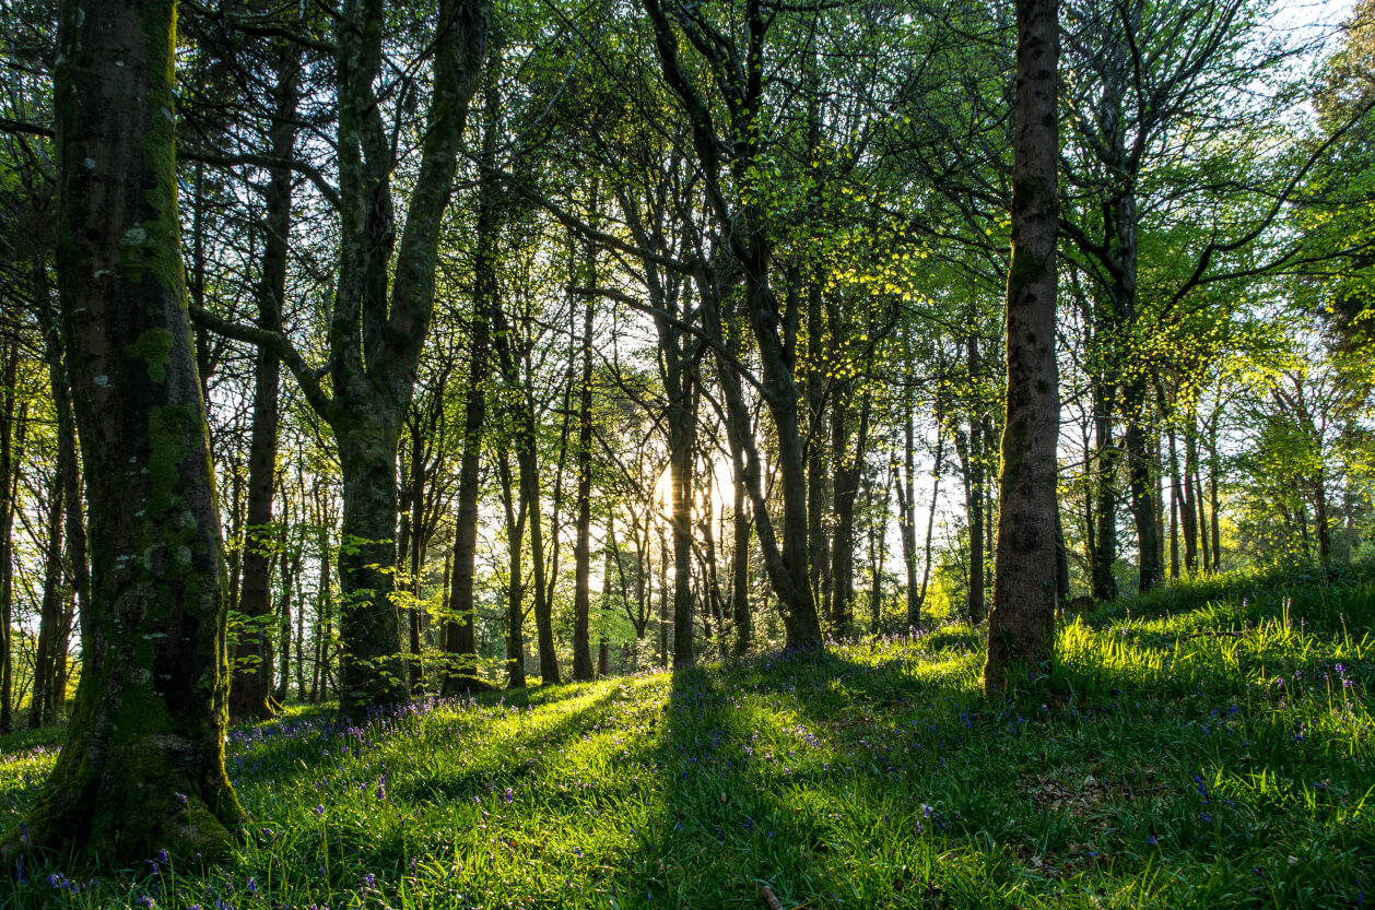
[[1006,425],[989,658],[983,668],[989,693],[1006,686],[1013,664],[1048,661],[1055,628],[1059,3],[1018,0],[1016,19]]

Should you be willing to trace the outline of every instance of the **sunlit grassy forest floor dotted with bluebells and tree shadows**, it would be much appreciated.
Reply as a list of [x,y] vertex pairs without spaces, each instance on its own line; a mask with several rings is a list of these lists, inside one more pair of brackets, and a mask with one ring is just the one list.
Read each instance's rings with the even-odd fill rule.
[[[0,906],[1353,907],[1375,573],[1180,584],[980,697],[967,625],[236,729],[217,869],[10,870]],[[58,733],[0,741],[16,822]],[[73,881],[78,878],[80,881]]]

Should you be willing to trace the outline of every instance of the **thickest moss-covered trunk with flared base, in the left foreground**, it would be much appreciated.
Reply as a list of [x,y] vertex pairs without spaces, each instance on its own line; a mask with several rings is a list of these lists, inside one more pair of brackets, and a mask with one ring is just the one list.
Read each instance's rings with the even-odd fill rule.
[[87,467],[91,616],[66,742],[4,852],[223,855],[227,576],[191,349],[175,5],[62,11],[58,279]]

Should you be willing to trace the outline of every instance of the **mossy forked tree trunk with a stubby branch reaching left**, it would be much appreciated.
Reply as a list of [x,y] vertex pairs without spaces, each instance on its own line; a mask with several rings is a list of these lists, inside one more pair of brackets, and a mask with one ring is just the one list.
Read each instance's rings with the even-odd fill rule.
[[[272,346],[338,443],[344,487],[340,708],[352,713],[407,697],[400,619],[389,597],[396,566],[396,456],[433,316],[440,221],[469,102],[484,67],[488,8],[485,0],[439,4],[428,45],[430,103],[399,243],[392,192],[399,153],[380,92],[408,95],[411,89],[384,82],[388,15],[381,0],[348,0],[337,22],[341,243],[329,313],[329,363],[323,370],[311,367],[280,331],[231,324],[204,312],[197,319]],[[324,374],[329,390],[320,384]]]

